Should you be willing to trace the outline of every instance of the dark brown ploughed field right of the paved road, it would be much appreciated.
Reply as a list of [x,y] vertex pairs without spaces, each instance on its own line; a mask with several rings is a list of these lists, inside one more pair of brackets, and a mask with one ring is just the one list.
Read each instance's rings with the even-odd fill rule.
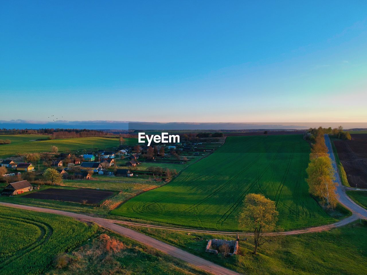
[[334,144],[350,186],[367,188],[367,134],[351,136],[352,140],[334,140]]

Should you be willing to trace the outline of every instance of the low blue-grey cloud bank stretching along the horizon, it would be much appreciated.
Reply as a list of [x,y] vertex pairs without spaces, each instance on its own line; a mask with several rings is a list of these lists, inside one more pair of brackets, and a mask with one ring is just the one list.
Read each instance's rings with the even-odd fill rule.
[[0,120],[0,127],[7,129],[39,129],[39,128],[75,128],[75,129],[165,129],[165,130],[239,130],[239,129],[308,129],[310,127],[337,127],[342,125],[345,129],[367,128],[367,122],[138,122],[138,121],[38,121],[38,120]]

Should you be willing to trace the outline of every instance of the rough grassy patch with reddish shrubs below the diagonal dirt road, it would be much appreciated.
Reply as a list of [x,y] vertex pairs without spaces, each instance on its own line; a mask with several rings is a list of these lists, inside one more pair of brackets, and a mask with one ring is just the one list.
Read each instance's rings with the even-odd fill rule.
[[[115,245],[115,249],[112,249]],[[85,245],[63,254],[63,268],[51,268],[46,275],[204,275],[203,271],[151,247],[102,228]]]

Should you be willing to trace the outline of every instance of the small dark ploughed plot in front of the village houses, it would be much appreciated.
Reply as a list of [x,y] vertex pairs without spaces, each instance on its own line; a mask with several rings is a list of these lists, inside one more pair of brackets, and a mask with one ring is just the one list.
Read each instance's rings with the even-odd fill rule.
[[102,200],[112,196],[112,191],[92,190],[86,188],[79,189],[59,189],[48,188],[34,192],[32,194],[24,195],[23,198],[31,199],[51,199],[52,201],[69,201],[88,204],[98,204]]

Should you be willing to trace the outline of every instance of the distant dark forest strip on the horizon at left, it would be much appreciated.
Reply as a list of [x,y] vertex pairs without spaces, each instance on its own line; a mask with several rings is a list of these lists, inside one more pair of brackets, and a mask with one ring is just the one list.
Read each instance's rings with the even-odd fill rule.
[[1,129],[0,135],[48,135],[49,139],[69,139],[74,137],[106,137],[111,133],[89,129]]

